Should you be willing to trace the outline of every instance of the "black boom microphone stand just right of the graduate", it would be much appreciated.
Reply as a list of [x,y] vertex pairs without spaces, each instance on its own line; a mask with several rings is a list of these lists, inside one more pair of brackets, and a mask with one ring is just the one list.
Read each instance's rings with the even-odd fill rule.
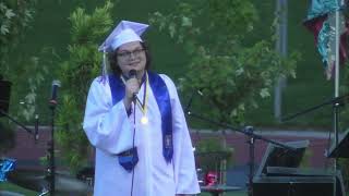
[[249,160],[249,166],[250,166],[249,167],[249,191],[248,191],[249,192],[248,193],[249,196],[253,196],[252,184],[253,184],[253,175],[254,175],[254,143],[255,143],[256,139],[264,140],[266,143],[275,144],[275,145],[280,146],[280,147],[282,147],[285,149],[288,149],[288,150],[296,150],[293,147],[287,146],[287,145],[281,144],[279,142],[276,142],[276,140],[273,140],[273,139],[269,139],[269,138],[266,138],[266,137],[263,137],[261,135],[255,134],[253,126],[245,126],[243,130],[241,130],[241,128],[234,127],[234,126],[232,126],[230,124],[216,122],[216,121],[210,120],[208,118],[205,118],[205,117],[198,115],[196,113],[193,113],[193,112],[191,112],[189,110],[189,107],[186,107],[185,111],[186,111],[186,114],[189,117],[193,117],[193,118],[196,118],[198,120],[202,120],[202,121],[205,121],[205,122],[208,122],[208,123],[212,123],[212,124],[225,127],[225,128],[230,128],[232,131],[240,132],[240,133],[242,133],[242,134],[244,134],[244,135],[246,135],[249,137],[249,142],[248,142],[248,144],[250,145],[249,146],[249,157],[250,157],[250,160]]

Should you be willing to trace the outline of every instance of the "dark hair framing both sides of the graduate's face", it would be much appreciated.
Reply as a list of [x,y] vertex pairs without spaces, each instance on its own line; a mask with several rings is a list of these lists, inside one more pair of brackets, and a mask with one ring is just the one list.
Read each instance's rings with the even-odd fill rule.
[[[141,41],[141,46],[145,51],[145,58],[146,58],[145,70],[149,70],[151,69],[151,62],[152,62],[149,48],[145,42],[142,42],[142,41]],[[112,73],[116,74],[116,75],[120,75],[122,73],[122,71],[121,71],[121,69],[120,69],[120,66],[118,64],[118,51],[119,51],[119,48],[116,49],[113,52],[110,52],[108,54],[110,69],[112,71]]]

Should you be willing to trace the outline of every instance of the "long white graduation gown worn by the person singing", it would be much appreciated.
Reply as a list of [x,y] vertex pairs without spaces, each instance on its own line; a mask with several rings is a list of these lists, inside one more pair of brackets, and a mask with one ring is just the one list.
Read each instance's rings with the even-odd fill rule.
[[[139,107],[135,112],[135,146],[139,162],[134,169],[133,196],[174,196],[197,194],[200,186],[195,171],[193,147],[184,113],[173,82],[160,74],[170,95],[172,107],[173,158],[167,163],[163,156],[161,117],[151,86],[148,89],[148,123],[141,123]],[[128,117],[123,101],[112,106],[108,78],[97,77],[89,88],[84,130],[96,147],[95,196],[131,195],[132,172],[124,170],[117,154],[132,147],[134,112]],[[145,84],[137,97],[143,100]],[[132,106],[133,108],[134,106]]]

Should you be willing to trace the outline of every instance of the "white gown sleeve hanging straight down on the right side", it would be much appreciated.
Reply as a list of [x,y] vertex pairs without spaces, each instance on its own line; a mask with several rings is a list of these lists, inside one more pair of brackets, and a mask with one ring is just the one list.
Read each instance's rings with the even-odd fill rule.
[[198,194],[200,186],[196,175],[193,146],[184,112],[173,82],[164,74],[161,74],[161,77],[168,87],[171,98],[176,194]]

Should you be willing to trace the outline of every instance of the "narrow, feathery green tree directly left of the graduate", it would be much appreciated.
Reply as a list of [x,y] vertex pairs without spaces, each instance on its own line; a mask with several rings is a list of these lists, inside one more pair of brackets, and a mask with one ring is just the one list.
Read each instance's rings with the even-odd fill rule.
[[83,112],[89,84],[100,74],[103,57],[97,48],[101,37],[112,26],[112,7],[107,1],[92,14],[79,8],[70,16],[72,40],[68,46],[69,59],[58,69],[63,97],[57,117],[57,140],[62,149],[62,157],[72,169],[86,163],[91,149],[82,127]]

